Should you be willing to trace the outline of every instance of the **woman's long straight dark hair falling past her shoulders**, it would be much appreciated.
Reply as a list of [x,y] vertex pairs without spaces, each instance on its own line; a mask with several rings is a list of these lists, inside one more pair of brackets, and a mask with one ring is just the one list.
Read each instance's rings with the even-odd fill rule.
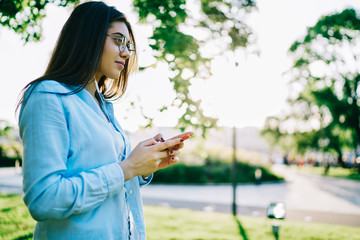
[[[32,85],[43,80],[75,86],[69,94],[81,91],[94,79],[100,67],[105,38],[111,23],[120,21],[128,28],[135,44],[134,34],[125,15],[103,2],[86,2],[77,6],[66,21],[43,76],[27,84],[16,110],[25,101],[25,93]],[[136,46],[136,45],[135,45]],[[126,90],[129,74],[137,69],[136,52],[127,59],[119,79],[98,79],[101,93],[106,99],[118,99]]]

